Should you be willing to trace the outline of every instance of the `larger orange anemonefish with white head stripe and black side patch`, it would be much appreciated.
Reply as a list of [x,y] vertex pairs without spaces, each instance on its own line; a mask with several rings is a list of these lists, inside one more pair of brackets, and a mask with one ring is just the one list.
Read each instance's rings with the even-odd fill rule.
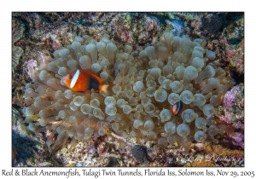
[[67,85],[67,88],[73,91],[80,92],[104,92],[107,93],[108,85],[102,84],[103,79],[97,77],[92,72],[87,70],[77,70],[71,72],[63,78],[64,83]]

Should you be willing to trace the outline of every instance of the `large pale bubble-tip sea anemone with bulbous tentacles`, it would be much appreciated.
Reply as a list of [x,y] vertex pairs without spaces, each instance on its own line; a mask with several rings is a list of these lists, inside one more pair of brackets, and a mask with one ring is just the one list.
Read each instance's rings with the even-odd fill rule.
[[[133,50],[107,34],[99,42],[84,35],[53,55],[28,66],[32,83],[26,84],[23,108],[27,129],[47,131],[49,151],[68,138],[73,147],[113,130],[139,144],[154,141],[154,149],[177,142],[188,152],[192,141],[217,143],[214,136],[224,133],[214,107],[234,83],[201,38],[166,32],[152,46]],[[63,78],[77,69],[101,77],[108,93],[68,90]],[[183,108],[176,116],[178,101]]]

